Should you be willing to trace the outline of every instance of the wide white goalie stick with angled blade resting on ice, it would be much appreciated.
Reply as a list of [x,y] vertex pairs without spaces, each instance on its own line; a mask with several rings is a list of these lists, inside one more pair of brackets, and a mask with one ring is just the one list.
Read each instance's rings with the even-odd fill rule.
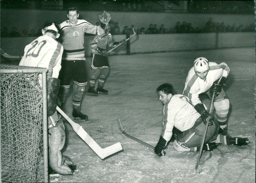
[[104,159],[105,157],[110,156],[120,150],[122,150],[122,145],[120,142],[115,143],[111,146],[106,148],[101,148],[88,133],[80,126],[79,124],[72,121],[67,114],[65,114],[60,107],[57,106],[57,111],[71,124],[74,131],[79,135],[85,143],[89,145],[89,147],[101,158]]

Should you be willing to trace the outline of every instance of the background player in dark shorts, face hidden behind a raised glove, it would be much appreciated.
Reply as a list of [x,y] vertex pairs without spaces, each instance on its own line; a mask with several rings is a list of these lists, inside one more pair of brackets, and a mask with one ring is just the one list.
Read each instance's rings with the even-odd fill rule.
[[[90,77],[90,87],[88,89],[89,95],[97,96],[98,93],[108,94],[108,90],[103,88],[106,77],[108,76],[109,72],[109,63],[108,63],[108,52],[107,47],[113,48],[116,47],[118,44],[122,43],[120,46],[124,46],[126,44],[125,40],[120,42],[114,42],[112,35],[109,33],[110,26],[106,24],[105,26],[105,33],[101,35],[96,35],[92,40],[91,47],[92,47],[92,74]],[[95,82],[99,77],[99,85],[97,90],[95,91]]]

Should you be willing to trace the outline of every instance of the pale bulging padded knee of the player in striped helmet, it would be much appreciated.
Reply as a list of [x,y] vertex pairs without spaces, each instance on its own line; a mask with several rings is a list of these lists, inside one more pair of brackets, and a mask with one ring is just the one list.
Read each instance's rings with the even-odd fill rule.
[[224,99],[224,100],[216,101],[213,103],[213,106],[216,110],[218,121],[219,122],[227,121],[228,110],[229,110],[229,100]]

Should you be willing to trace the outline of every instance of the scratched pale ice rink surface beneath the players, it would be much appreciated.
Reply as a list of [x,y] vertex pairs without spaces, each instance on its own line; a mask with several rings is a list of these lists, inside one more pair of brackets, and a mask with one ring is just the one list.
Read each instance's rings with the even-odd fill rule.
[[[228,133],[247,137],[247,146],[224,146],[203,152],[195,173],[198,153],[177,152],[172,143],[164,157],[121,134],[125,132],[153,146],[159,140],[163,104],[156,88],[171,83],[181,94],[193,61],[206,57],[210,62],[225,62],[230,74],[223,86],[230,101]],[[51,175],[51,182],[255,182],[255,48],[227,48],[109,56],[110,72],[104,88],[108,95],[84,94],[81,111],[89,121],[76,121],[102,147],[120,142],[123,150],[102,160],[76,135],[68,122],[66,144],[62,150],[77,165],[71,176]],[[91,59],[86,66],[91,73]],[[88,76],[89,77],[89,76]],[[88,89],[88,86],[86,87]],[[72,90],[64,112],[72,117]],[[210,107],[205,95],[202,101]]]

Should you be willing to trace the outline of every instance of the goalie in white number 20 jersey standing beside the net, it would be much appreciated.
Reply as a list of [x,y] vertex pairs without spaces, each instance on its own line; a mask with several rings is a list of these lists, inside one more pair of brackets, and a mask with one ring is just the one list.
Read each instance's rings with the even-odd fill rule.
[[[49,163],[50,171],[62,175],[71,175],[76,169],[71,159],[62,156],[61,150],[65,144],[65,126],[59,121],[56,111],[57,95],[60,87],[58,79],[61,69],[63,46],[56,41],[60,36],[60,27],[57,23],[47,21],[42,29],[43,35],[33,40],[25,47],[21,66],[47,68],[47,115],[49,129]],[[39,76],[39,83],[42,78]]]

